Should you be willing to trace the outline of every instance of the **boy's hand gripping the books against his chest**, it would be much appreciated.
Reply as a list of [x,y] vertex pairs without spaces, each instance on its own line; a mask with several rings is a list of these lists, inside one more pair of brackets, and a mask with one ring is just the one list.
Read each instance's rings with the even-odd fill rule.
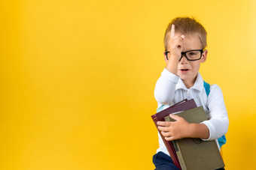
[[170,114],[175,121],[157,121],[157,128],[166,141],[190,137],[190,124],[178,115]]

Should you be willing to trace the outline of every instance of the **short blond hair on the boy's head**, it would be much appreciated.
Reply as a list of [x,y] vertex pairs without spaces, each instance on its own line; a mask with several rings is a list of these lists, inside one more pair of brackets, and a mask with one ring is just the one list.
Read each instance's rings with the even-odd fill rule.
[[166,28],[166,33],[164,34],[164,48],[167,50],[168,44],[168,34],[171,32],[172,24],[175,25],[175,33],[178,34],[198,34],[200,38],[200,43],[202,45],[202,49],[206,48],[206,37],[207,32],[206,29],[203,28],[203,25],[200,22],[197,22],[196,19],[190,17],[177,17],[172,19],[172,22],[169,22],[169,25]]

